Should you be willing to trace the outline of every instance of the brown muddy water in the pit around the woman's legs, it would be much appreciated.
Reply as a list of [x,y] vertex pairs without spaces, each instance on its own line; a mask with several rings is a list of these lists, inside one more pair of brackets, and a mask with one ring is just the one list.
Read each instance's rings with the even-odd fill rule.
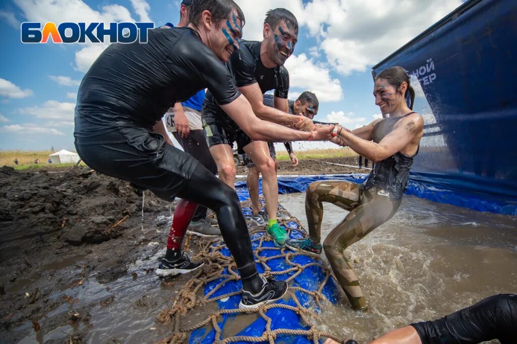
[[[280,195],[279,201],[307,228],[305,194]],[[345,215],[324,204],[322,238]],[[408,196],[388,223],[345,255],[354,262],[370,311],[358,314],[342,300],[323,311],[322,318],[332,321],[322,326],[360,342],[394,327],[434,320],[495,293],[517,293],[515,216]]]

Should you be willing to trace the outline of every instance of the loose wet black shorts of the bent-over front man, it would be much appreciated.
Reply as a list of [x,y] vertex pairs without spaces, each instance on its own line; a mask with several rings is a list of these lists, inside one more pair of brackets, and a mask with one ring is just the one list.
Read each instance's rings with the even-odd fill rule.
[[165,142],[162,135],[144,128],[116,128],[95,137],[76,137],[81,159],[107,176],[127,180],[172,201],[199,164]]

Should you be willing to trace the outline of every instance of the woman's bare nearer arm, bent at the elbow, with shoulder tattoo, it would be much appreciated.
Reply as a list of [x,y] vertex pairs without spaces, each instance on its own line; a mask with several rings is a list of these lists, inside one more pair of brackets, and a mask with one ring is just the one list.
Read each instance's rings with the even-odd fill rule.
[[397,129],[386,135],[378,144],[344,129],[337,138],[359,155],[376,163],[404,149],[422,130],[423,118],[418,114],[413,114],[401,119]]

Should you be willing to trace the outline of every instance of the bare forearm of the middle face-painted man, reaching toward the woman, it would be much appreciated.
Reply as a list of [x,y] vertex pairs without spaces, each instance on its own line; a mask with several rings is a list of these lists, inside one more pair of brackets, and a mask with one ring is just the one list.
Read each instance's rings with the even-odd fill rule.
[[[282,112],[274,107],[266,106],[263,103],[262,91],[257,83],[242,86],[239,91],[246,97],[251,104],[251,108],[255,115],[263,120],[282,124],[283,126],[296,126],[296,128],[305,131],[314,130],[312,121],[303,116],[290,115]],[[286,100],[287,101],[287,100]]]

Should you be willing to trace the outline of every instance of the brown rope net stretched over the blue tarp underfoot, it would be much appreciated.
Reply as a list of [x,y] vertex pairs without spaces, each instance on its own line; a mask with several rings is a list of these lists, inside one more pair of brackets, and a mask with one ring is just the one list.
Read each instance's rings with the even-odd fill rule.
[[[314,325],[314,320],[319,319],[317,311],[325,303],[335,302],[335,298],[332,296],[336,294],[336,284],[330,278],[331,272],[320,261],[319,255],[275,247],[266,232],[265,225],[253,226],[250,223],[251,202],[243,201],[241,207],[245,215],[248,215],[248,228],[258,271],[265,277],[276,276],[277,279],[286,280],[289,283],[286,295],[276,303],[251,309],[239,309],[241,284],[237,267],[222,239],[212,240],[193,257],[193,260],[204,261],[203,267],[178,293],[172,307],[162,310],[158,315],[158,322],[170,324],[173,330],[171,336],[164,338],[159,343],[184,343],[189,338],[189,333],[191,333],[191,342],[245,341],[272,344],[277,338],[290,342],[289,336],[305,336],[314,343],[320,342],[319,339],[324,337],[340,341],[336,336],[320,331]],[[279,218],[278,222],[287,230],[290,238],[298,239],[307,236],[307,232],[302,228],[300,222],[291,217],[280,205],[279,212],[289,216]],[[311,278],[300,280],[298,277],[306,270],[310,270],[308,272],[311,273]],[[219,303],[218,310],[210,312],[206,318],[195,324],[183,324],[192,322],[185,316],[194,312],[195,307],[201,307],[199,309],[201,313],[207,314],[206,309],[209,311],[207,305],[216,302]],[[290,311],[291,318],[294,317],[296,319],[294,322],[298,322],[298,324],[293,323],[292,319],[286,323],[285,311],[284,316],[281,317],[279,310]],[[237,317],[243,317],[245,314],[255,314],[257,319],[262,318],[263,330],[257,330],[257,326],[255,326],[254,330],[245,331],[249,332],[246,335],[242,335],[242,333],[232,335],[224,330],[224,324],[227,323],[225,320],[235,321],[238,319]],[[289,318],[288,315],[287,318]],[[282,324],[289,325],[291,328],[281,328]],[[194,340],[192,340],[193,337],[195,337]]]

